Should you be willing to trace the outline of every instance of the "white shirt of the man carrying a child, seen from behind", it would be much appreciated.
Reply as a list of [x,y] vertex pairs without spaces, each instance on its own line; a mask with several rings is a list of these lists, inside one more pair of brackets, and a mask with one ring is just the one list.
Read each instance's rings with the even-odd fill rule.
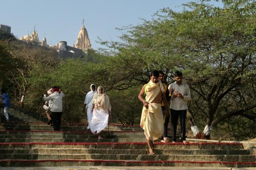
[[62,112],[62,98],[64,97],[64,93],[54,92],[50,96],[46,96],[44,94],[44,100],[49,101],[52,100],[52,108],[51,112]]

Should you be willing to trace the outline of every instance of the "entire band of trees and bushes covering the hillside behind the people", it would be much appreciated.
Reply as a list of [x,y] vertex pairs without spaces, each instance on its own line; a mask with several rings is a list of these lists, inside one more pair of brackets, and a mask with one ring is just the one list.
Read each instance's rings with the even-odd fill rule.
[[[113,106],[112,123],[138,124],[137,96],[151,70],[163,70],[168,83],[180,70],[192,91],[192,120],[201,132],[241,140],[256,137],[256,2],[223,0],[223,8],[184,4],[182,12],[163,8],[152,20],[123,31],[122,42],[101,42],[107,50],[93,62],[62,60],[40,46],[0,42],[1,86],[13,100],[43,113],[42,95],[53,85],[65,93],[64,121],[86,121],[85,93],[103,85]],[[189,124],[188,124],[189,130]],[[206,136],[210,138],[210,135]]]

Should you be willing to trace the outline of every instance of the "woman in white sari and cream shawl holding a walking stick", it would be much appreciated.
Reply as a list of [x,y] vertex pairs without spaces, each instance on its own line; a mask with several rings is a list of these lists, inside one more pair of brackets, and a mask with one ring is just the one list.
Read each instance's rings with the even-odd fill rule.
[[[97,93],[92,99],[92,122],[91,131],[94,135],[99,134],[104,128],[108,126],[108,115],[111,111],[109,97],[104,93],[102,86],[98,87]],[[99,134],[98,139],[102,139]]]

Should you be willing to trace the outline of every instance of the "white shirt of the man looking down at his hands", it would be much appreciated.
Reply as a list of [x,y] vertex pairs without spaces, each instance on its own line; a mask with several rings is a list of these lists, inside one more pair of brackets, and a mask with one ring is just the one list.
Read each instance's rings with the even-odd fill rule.
[[[176,83],[176,81],[168,86],[168,90],[170,92],[171,89],[174,89],[171,98],[170,108],[173,110],[187,110],[188,109],[188,101],[191,100],[191,93],[189,86],[186,83],[181,82],[180,85]],[[179,92],[184,97],[181,99],[180,97],[173,98],[175,92]]]

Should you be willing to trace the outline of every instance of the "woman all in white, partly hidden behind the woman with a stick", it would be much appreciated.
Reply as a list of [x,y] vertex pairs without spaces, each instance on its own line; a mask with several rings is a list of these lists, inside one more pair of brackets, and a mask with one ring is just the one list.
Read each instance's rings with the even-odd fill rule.
[[90,129],[91,128],[91,121],[92,121],[92,113],[91,113],[91,110],[92,110],[92,98],[94,96],[94,94],[97,92],[95,89],[95,85],[92,84],[90,86],[91,88],[91,91],[88,92],[85,96],[85,100],[84,100],[84,110],[83,112],[85,112],[85,108],[87,108],[87,120],[88,120],[88,127],[87,129]]

